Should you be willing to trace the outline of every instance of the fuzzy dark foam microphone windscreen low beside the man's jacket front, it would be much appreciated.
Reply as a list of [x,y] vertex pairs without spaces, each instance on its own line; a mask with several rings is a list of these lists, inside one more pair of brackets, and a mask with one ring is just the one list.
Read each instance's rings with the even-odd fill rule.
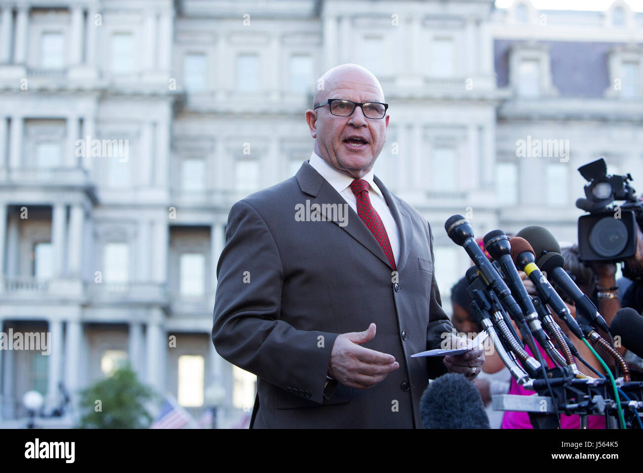
[[420,399],[425,429],[491,429],[478,389],[460,373],[431,381]]

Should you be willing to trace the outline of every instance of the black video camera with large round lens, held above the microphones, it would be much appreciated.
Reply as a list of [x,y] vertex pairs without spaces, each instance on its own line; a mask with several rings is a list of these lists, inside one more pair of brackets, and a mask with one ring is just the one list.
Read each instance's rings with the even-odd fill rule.
[[[643,228],[643,202],[628,184],[632,176],[607,173],[604,158],[578,168],[588,181],[585,199],[576,207],[589,212],[578,219],[578,249],[581,261],[619,263],[636,253],[637,225]],[[615,201],[623,201],[615,205]]]

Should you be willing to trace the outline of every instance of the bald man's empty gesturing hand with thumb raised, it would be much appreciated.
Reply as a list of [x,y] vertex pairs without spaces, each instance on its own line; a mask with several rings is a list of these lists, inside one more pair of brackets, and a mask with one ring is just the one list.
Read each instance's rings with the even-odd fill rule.
[[368,389],[399,368],[393,355],[364,348],[375,337],[375,324],[363,332],[341,333],[332,346],[328,374],[341,384],[358,389]]

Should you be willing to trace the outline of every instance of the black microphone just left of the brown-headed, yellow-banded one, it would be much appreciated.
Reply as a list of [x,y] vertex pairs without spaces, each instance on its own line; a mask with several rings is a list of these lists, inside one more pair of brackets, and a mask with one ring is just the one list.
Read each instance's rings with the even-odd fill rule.
[[[509,243],[509,237],[507,237],[505,232],[502,230],[492,230],[484,236],[482,241],[484,241],[484,246],[487,252],[493,259],[498,261],[498,264],[500,264],[502,272],[505,275],[507,286],[509,286],[511,294],[523,311],[525,320],[527,320],[529,328],[536,336],[536,339],[538,339],[538,343],[540,346],[547,346],[547,335],[545,335],[543,326],[538,319],[536,308],[534,308],[531,297],[529,297],[529,293],[527,293],[527,290],[525,289],[525,284],[523,284],[522,279],[520,279],[520,275],[516,270],[516,265],[511,259],[511,244]],[[525,335],[523,334],[523,337],[524,336]]]

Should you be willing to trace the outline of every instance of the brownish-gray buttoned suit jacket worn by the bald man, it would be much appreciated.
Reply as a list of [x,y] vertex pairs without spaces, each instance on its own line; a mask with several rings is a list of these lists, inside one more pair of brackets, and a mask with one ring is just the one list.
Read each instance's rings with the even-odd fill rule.
[[[428,222],[374,180],[399,229],[397,279],[350,207],[345,226],[330,215],[295,218],[307,200],[346,204],[307,161],[293,178],[230,210],[212,340],[223,358],[257,375],[251,428],[422,427],[422,391],[446,368],[442,358],[410,355],[438,348],[453,326],[440,306]],[[371,389],[325,388],[336,337],[371,322],[377,333],[363,346],[390,353],[399,369]]]

